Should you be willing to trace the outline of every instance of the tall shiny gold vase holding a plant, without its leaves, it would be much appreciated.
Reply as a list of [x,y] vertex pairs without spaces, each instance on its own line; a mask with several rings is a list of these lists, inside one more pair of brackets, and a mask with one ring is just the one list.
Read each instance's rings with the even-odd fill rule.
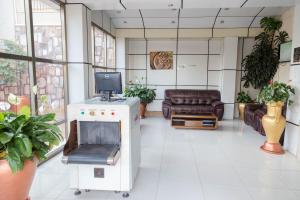
[[283,106],[284,103],[281,101],[268,103],[267,114],[262,118],[262,124],[266,132],[267,141],[261,146],[261,149],[269,153],[284,153],[279,143],[286,124],[286,119],[281,115]]

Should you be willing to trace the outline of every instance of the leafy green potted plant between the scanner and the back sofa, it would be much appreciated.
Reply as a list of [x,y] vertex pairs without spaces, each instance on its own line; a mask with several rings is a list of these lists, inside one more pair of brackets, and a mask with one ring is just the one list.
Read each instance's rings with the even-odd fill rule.
[[138,97],[140,99],[140,116],[145,118],[147,104],[151,103],[155,97],[155,89],[149,89],[146,86],[138,83],[125,89],[125,97]]

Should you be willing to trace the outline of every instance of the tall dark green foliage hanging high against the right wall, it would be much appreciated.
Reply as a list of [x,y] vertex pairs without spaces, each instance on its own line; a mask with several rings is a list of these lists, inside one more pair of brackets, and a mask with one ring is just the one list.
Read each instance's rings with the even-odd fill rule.
[[279,31],[282,22],[272,17],[264,17],[260,21],[264,29],[255,37],[256,44],[251,54],[242,61],[245,74],[242,77],[244,87],[252,85],[255,89],[261,89],[272,80],[279,65],[280,45],[286,42],[288,34]]

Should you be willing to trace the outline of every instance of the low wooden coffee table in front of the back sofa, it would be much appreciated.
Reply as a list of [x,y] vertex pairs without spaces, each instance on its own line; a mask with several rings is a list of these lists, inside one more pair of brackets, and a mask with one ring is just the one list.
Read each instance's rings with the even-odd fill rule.
[[213,113],[181,114],[172,112],[171,126],[174,128],[215,130],[218,128],[218,117]]

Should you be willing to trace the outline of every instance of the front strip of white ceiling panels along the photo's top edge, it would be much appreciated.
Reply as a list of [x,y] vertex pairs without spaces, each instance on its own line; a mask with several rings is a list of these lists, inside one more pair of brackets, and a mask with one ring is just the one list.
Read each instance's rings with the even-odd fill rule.
[[[296,0],[121,0],[127,9],[168,8],[239,8],[243,7],[286,7],[295,5]],[[120,0],[68,0],[68,3],[84,3],[93,10],[124,9]],[[181,5],[181,2],[183,4]]]

